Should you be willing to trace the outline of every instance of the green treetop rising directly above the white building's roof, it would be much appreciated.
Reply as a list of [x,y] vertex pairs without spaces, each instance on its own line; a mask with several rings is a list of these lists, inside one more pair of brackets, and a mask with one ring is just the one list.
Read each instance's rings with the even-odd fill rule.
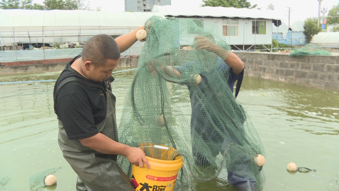
[[235,7],[235,8],[255,8],[257,4],[251,6],[251,3],[247,0],[203,0],[202,6],[211,7]]

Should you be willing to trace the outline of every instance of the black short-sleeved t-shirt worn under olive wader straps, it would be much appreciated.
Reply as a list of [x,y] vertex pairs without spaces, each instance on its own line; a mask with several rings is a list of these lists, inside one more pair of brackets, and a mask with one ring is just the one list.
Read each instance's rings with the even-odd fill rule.
[[[71,68],[71,64],[80,57],[81,55],[78,55],[66,65],[54,87],[55,112],[70,140],[97,134],[99,131],[95,125],[105,119],[107,109],[105,82],[94,82]],[[57,86],[70,76],[85,80],[87,83],[68,82],[56,95]]]

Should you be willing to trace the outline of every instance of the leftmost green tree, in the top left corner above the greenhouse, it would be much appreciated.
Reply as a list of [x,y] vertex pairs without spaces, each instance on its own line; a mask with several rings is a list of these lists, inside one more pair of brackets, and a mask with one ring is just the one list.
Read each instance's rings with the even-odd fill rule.
[[2,0],[0,2],[2,9],[38,9],[43,10],[44,6],[32,3],[32,0]]

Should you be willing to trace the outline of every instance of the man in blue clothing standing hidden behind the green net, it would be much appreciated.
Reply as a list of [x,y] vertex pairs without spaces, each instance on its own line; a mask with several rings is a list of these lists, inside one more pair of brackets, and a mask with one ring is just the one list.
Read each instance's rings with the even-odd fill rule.
[[[255,176],[261,169],[253,168],[252,160],[258,152],[251,148],[252,144],[248,141],[251,139],[248,138],[251,136],[248,135],[248,127],[251,124],[246,121],[246,114],[233,95],[237,80],[235,96],[240,89],[243,62],[227,48],[217,45],[211,33],[198,34],[194,38],[193,48],[186,50],[191,51],[180,54],[184,55],[182,59],[185,61],[182,64],[168,64],[160,61],[161,58],[151,56],[147,65],[153,75],[157,72],[167,81],[188,87],[192,108],[191,139],[195,166],[201,169],[198,171],[204,176],[211,166],[222,168],[225,162],[227,179],[231,185],[237,186],[240,191],[257,190]],[[169,57],[168,60],[177,60],[174,56],[171,57],[171,54]],[[219,154],[223,159],[218,159]],[[206,180],[198,175],[194,176]]]

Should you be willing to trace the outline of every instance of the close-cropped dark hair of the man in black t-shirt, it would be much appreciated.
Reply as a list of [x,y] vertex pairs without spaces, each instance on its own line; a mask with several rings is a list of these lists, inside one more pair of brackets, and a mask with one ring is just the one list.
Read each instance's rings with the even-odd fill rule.
[[83,46],[82,60],[91,60],[95,66],[103,66],[108,59],[118,60],[120,50],[117,42],[109,35],[96,35]]

